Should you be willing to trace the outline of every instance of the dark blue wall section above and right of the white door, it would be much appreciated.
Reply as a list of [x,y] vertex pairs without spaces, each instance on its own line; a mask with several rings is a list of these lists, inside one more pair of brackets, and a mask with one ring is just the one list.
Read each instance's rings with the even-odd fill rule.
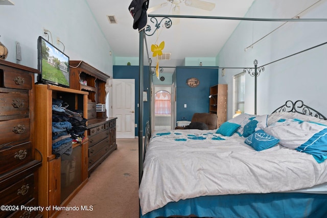
[[[144,66],[144,77],[143,77],[144,85],[143,90],[148,91],[148,101],[143,102],[143,134],[145,134],[145,125],[149,120],[149,66]],[[139,67],[138,66],[113,66],[113,79],[135,79],[135,124],[137,127],[135,128],[135,136],[138,136],[138,112],[139,107],[137,104],[139,103]],[[141,96],[142,98],[142,96]]]

